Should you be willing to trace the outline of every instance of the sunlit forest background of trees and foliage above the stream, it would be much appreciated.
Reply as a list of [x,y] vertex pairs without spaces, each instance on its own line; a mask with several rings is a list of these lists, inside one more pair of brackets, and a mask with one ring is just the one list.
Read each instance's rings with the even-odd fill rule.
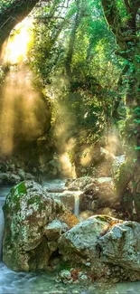
[[[14,104],[13,147],[7,154],[5,148],[1,150],[2,158],[23,156],[26,166],[40,166],[42,172],[51,160],[59,162],[67,157],[75,166],[76,175],[81,176],[94,175],[94,168],[101,170],[100,147],[111,156],[125,154],[126,161],[117,173],[115,189],[120,197],[135,201],[137,215],[140,209],[139,7],[140,2],[135,0],[2,1],[0,7],[2,57],[6,38],[11,31],[11,38],[18,33],[13,30],[14,25],[33,10],[33,38],[27,58],[21,63],[25,71],[32,72],[32,87],[42,100],[36,102],[38,107],[34,110],[36,120],[40,121],[40,125],[35,125],[39,129],[36,132],[22,126],[19,109],[23,104]],[[18,66],[2,61],[2,104],[5,82],[9,82],[6,78]],[[0,128],[3,134],[3,124]],[[105,176],[107,164],[104,167],[102,175]],[[48,169],[45,173],[48,174]]]

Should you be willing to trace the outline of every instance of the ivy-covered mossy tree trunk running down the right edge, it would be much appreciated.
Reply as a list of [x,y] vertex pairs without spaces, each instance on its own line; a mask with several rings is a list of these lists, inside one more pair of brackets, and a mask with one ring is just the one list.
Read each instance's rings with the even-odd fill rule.
[[[126,164],[120,167],[117,194],[140,212],[140,1],[101,0],[108,26],[116,36],[117,54],[125,59]],[[129,200],[128,200],[129,199]],[[125,204],[126,205],[126,204]]]

